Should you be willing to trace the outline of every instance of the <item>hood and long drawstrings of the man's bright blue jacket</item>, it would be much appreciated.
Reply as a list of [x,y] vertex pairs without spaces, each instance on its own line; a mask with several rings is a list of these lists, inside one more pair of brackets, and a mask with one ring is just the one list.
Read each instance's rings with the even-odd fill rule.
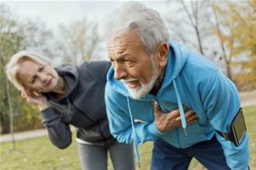
[[[168,85],[170,83],[173,83],[173,86],[174,86],[175,92],[176,92],[176,100],[178,103],[178,109],[180,110],[180,115],[181,115],[181,125],[182,125],[182,128],[184,128],[185,135],[187,135],[187,132],[186,132],[187,123],[186,123],[186,118],[184,116],[184,109],[183,109],[183,106],[181,103],[181,98],[178,93],[178,88],[176,87],[175,79],[178,76],[179,72],[181,72],[181,69],[183,69],[183,67],[187,61],[188,54],[189,54],[189,50],[184,45],[180,45],[173,41],[171,41],[169,43],[167,65],[165,66],[165,77],[164,77],[164,81],[162,83],[162,87],[164,87],[165,85]],[[131,96],[130,96],[127,88],[123,84],[123,82],[118,81],[114,78],[113,68],[110,68],[110,70],[107,74],[107,80],[108,80],[110,86],[114,90],[117,90],[118,93],[121,93],[124,96],[127,96],[129,117],[130,117],[131,123],[132,123],[132,136],[133,136],[133,144],[134,144],[134,149],[135,149],[136,161],[138,162],[138,164],[140,166],[140,156],[139,156],[139,152],[138,152],[138,139],[136,136],[134,119],[132,118],[132,112],[131,112],[130,104],[129,104],[129,100],[130,100]],[[160,91],[161,91],[161,88],[159,90],[159,93],[160,93]],[[147,98],[147,95],[144,96],[143,98]]]

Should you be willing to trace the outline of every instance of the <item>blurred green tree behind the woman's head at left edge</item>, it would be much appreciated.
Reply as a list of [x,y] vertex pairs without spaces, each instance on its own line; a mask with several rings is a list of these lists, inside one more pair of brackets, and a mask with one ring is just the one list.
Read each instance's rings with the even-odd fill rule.
[[[18,20],[4,4],[0,5],[0,121],[1,134],[10,132],[10,111],[16,115],[14,130],[24,130],[28,126],[39,126],[40,118],[37,109],[30,107],[20,92],[16,90],[5,75],[4,67],[10,57],[20,50],[37,50],[39,53],[50,53],[48,39],[51,31],[39,20],[29,18]],[[23,18],[21,18],[23,19]],[[12,96],[12,100],[10,100]]]

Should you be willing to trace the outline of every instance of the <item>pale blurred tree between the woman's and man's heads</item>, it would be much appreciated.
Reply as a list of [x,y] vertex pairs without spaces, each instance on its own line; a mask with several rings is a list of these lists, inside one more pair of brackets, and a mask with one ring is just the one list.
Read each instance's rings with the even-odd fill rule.
[[102,41],[97,33],[97,24],[88,22],[86,18],[68,26],[60,25],[59,32],[59,55],[66,63],[89,61],[98,43]]

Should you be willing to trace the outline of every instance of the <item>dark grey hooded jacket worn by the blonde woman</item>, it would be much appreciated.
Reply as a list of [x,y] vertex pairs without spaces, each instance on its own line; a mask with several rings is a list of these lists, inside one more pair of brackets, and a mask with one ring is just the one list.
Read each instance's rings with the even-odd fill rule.
[[66,93],[59,99],[44,93],[50,106],[42,111],[43,125],[50,141],[61,149],[72,142],[69,124],[78,128],[77,137],[92,144],[108,147],[115,139],[110,134],[105,110],[106,74],[110,62],[94,61],[82,66],[56,68],[64,78]]

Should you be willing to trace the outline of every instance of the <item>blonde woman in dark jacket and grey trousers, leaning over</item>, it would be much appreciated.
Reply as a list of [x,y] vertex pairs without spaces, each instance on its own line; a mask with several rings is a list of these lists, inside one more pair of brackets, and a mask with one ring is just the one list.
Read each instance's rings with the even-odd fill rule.
[[105,83],[110,63],[96,61],[81,66],[53,68],[39,53],[21,51],[7,63],[7,77],[43,117],[50,141],[60,149],[72,142],[69,124],[78,128],[83,170],[105,170],[108,151],[116,170],[135,169],[132,146],[111,136],[105,111]]

